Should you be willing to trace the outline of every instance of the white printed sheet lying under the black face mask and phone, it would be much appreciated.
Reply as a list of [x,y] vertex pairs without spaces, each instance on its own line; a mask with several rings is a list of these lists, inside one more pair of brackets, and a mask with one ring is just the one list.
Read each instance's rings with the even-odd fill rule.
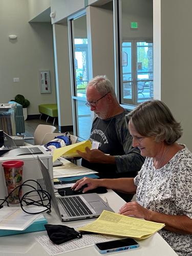
[[52,243],[47,234],[36,236],[35,239],[50,255],[58,255],[61,253],[90,247],[95,243],[114,240],[114,237],[104,236],[103,234],[83,234],[82,238],[80,239],[73,239],[60,245]]

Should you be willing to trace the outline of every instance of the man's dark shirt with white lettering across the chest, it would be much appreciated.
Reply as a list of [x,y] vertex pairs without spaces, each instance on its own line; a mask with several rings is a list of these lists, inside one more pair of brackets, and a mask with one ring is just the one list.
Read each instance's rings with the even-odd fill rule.
[[81,165],[96,170],[101,178],[135,177],[144,158],[138,148],[132,146],[132,136],[125,121],[124,110],[109,119],[96,117],[92,124],[90,141],[99,142],[98,150],[115,156],[116,164],[90,163],[82,159]]

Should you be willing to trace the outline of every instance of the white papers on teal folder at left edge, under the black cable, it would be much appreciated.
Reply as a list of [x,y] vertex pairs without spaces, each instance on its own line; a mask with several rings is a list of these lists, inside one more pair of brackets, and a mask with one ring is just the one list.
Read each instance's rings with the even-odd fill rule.
[[[37,209],[37,207],[34,208]],[[37,212],[37,210],[35,210],[35,212]],[[39,217],[39,215],[40,214],[26,214],[20,207],[4,206],[0,209],[0,229],[24,230]]]

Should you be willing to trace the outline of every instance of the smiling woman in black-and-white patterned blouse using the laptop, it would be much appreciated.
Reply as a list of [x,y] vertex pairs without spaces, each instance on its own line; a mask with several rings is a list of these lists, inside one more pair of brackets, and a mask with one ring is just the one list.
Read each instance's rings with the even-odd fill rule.
[[159,231],[178,255],[192,255],[192,154],[176,141],[181,126],[167,106],[159,100],[146,101],[126,116],[133,137],[145,162],[135,178],[87,179],[75,183],[74,189],[97,186],[136,192],[136,202],[123,205],[119,213],[165,223]]

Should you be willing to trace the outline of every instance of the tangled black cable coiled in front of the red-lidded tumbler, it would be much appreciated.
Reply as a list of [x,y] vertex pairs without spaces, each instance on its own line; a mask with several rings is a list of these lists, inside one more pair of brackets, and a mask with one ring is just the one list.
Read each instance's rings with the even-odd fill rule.
[[[29,185],[29,184],[26,184],[27,182],[35,182],[37,184],[37,187],[39,187],[40,189],[36,189],[34,186],[32,185]],[[31,187],[33,188],[33,190],[30,190],[28,191],[27,193],[25,193],[22,197],[20,197],[21,195],[21,191],[22,191],[22,187],[24,186],[28,186],[28,187]],[[22,210],[24,212],[26,212],[27,214],[40,214],[42,212],[51,212],[51,195],[44,189],[42,189],[42,186],[35,180],[26,180],[25,182],[23,182],[21,185],[19,186],[16,186],[10,193],[9,195],[5,198],[5,199],[0,199],[0,201],[3,201],[1,204],[0,204],[0,209],[3,207],[3,204],[5,202],[7,202],[7,206],[9,206],[9,202],[8,202],[8,198],[11,196],[11,194],[13,193],[14,190],[16,190],[17,188],[18,189],[18,200],[19,200],[19,203],[20,203],[20,207],[22,208]],[[31,198],[28,198],[27,196],[29,196],[30,194],[34,194],[34,192],[37,193],[37,195],[39,196],[39,200],[33,200]],[[45,204],[45,202],[47,202]],[[29,205],[35,205],[35,206],[43,206],[45,207],[46,209],[44,210],[41,210],[41,211],[38,211],[38,212],[29,212],[27,211],[27,209],[24,209],[25,206],[29,206]]]

